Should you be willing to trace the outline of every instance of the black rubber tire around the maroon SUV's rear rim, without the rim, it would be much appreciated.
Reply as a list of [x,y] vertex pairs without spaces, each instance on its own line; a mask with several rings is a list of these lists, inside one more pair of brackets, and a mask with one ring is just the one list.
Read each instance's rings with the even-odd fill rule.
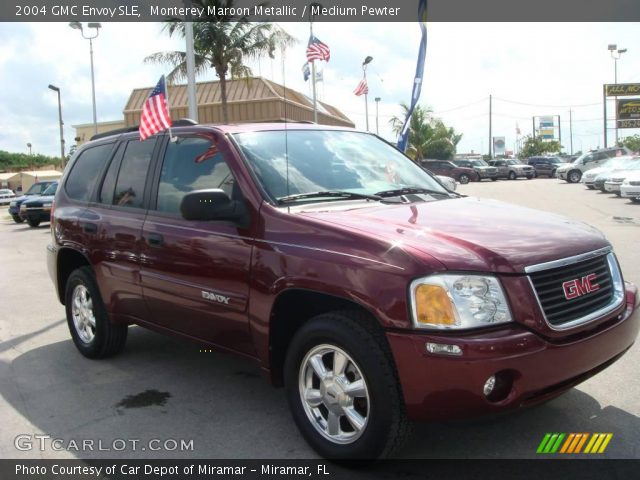
[[[89,340],[81,338],[79,329],[76,328],[74,322],[72,303],[76,287],[80,286],[86,289],[88,299],[92,303],[95,326],[92,329],[93,337]],[[104,358],[115,355],[124,348],[127,341],[128,326],[114,324],[109,320],[95,277],[89,267],[78,268],[69,276],[65,288],[65,307],[71,338],[82,355],[87,358]]]

